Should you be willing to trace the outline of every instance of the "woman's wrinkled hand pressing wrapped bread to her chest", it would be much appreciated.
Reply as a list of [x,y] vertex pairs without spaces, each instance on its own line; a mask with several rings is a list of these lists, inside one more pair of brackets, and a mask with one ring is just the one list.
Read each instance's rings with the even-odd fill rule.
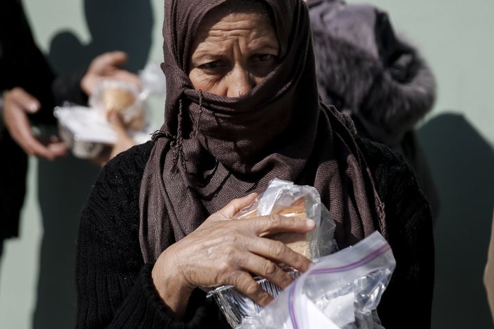
[[251,219],[231,219],[250,205],[257,194],[234,199],[211,215],[197,230],[169,246],[158,257],[152,278],[163,301],[182,317],[189,295],[196,287],[231,284],[260,305],[272,295],[255,282],[252,274],[286,287],[292,277],[277,264],[307,271],[311,260],[280,241],[263,238],[277,232],[309,232],[316,226],[311,219],[270,215]]

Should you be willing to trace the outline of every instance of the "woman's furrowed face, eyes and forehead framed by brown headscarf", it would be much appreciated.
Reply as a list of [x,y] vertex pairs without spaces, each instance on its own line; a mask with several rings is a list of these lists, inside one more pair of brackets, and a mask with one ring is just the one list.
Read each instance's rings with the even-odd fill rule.
[[196,90],[240,97],[277,65],[279,44],[269,19],[254,12],[213,12],[200,24],[189,62]]

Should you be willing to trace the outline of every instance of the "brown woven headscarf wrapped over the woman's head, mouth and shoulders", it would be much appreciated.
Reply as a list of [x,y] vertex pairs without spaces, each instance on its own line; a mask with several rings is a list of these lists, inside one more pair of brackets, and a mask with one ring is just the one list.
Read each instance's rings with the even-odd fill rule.
[[[195,90],[189,57],[198,25],[228,0],[165,0],[165,123],[141,183],[139,239],[146,263],[235,197],[273,178],[317,188],[346,247],[384,228],[373,179],[346,117],[319,102],[309,14],[302,0],[270,8],[279,64],[242,97]],[[385,234],[385,232],[383,232]]]

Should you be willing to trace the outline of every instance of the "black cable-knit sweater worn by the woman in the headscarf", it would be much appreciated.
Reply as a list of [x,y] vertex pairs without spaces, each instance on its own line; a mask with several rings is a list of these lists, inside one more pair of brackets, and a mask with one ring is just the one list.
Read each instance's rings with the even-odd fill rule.
[[[379,305],[386,328],[430,328],[434,249],[430,210],[410,168],[375,143],[360,141],[386,207],[397,268]],[[139,188],[152,142],[106,165],[82,212],[78,236],[78,328],[228,328],[196,289],[185,321],[171,317],[139,247]]]

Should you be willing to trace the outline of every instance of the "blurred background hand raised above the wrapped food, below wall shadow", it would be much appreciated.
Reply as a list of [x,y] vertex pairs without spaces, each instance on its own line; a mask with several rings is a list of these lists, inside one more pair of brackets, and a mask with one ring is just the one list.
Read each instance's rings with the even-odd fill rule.
[[93,90],[99,82],[103,80],[119,80],[131,82],[141,87],[139,76],[121,69],[121,66],[128,60],[128,56],[123,51],[110,51],[95,57],[89,68],[82,77],[81,88],[86,95],[92,95]]

